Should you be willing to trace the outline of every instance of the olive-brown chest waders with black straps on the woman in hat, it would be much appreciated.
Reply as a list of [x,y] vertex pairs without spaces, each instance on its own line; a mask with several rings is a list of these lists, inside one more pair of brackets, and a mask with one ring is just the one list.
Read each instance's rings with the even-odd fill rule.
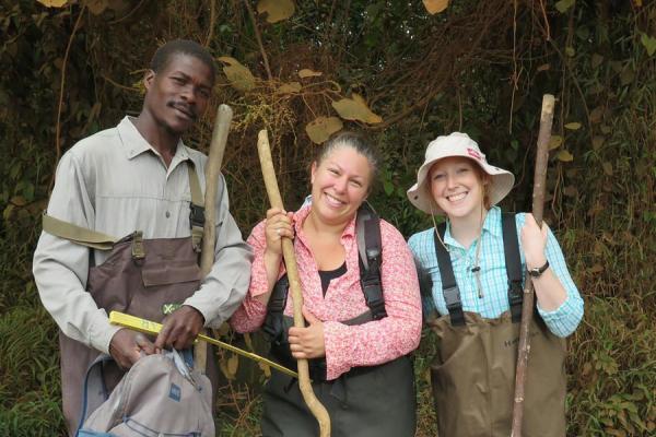
[[[511,435],[523,280],[514,214],[502,215],[502,227],[511,309],[495,319],[462,311],[449,253],[434,236],[449,312],[430,323],[438,338],[431,379],[440,437]],[[441,235],[445,229],[443,224]],[[565,340],[553,335],[539,316],[529,335],[523,437],[563,437]]]

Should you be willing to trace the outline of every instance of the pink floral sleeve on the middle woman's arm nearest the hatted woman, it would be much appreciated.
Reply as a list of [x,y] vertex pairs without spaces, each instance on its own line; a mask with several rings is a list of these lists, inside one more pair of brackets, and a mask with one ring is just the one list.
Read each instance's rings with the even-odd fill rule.
[[387,317],[359,326],[324,322],[327,379],[352,367],[390,362],[417,349],[422,308],[412,255],[400,233],[380,221],[382,285]]

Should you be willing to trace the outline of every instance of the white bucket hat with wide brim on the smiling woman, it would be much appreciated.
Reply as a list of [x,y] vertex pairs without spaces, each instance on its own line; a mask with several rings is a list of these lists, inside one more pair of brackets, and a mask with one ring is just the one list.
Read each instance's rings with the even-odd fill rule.
[[469,138],[467,133],[454,132],[449,135],[437,137],[429,143],[424,163],[417,172],[417,184],[408,190],[410,202],[427,214],[432,212],[444,214],[444,211],[433,200],[430,187],[426,185],[426,177],[435,162],[448,156],[470,158],[490,175],[488,197],[491,204],[501,202],[515,184],[515,176],[511,172],[488,164],[485,155],[481,153],[476,141]]

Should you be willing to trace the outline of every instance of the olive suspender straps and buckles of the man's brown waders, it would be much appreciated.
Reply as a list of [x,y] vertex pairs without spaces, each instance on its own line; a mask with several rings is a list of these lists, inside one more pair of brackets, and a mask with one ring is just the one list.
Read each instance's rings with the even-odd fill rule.
[[[189,189],[191,191],[191,213],[189,214],[189,226],[191,227],[191,241],[194,244],[194,250],[200,252],[202,228],[204,226],[204,208],[202,191],[200,190],[200,182],[198,175],[191,160],[189,163]],[[119,241],[119,238],[102,234],[99,232],[90,231],[85,227],[74,225],[72,223],[65,222],[59,218],[55,218],[44,212],[43,215],[43,229],[48,234],[55,235],[60,238],[68,239],[69,241],[75,243],[81,246],[86,246],[92,249],[98,250],[112,250],[114,245]],[[143,251],[143,234],[141,231],[137,231],[132,234],[134,240],[132,247],[132,256],[137,259],[145,257]],[[198,247],[198,249],[197,249]]]

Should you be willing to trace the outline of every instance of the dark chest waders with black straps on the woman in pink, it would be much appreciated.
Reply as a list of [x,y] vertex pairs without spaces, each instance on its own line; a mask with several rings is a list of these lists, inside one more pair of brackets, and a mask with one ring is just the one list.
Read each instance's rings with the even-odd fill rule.
[[[387,317],[380,284],[380,224],[366,203],[358,211],[355,237],[360,283],[368,310],[342,321],[349,326]],[[288,291],[289,282],[284,275],[273,287],[262,330],[270,341],[271,356],[295,369],[296,361],[288,342],[288,331],[294,323],[291,317],[283,315]],[[325,358],[308,362],[314,392],[330,414],[332,437],[414,436],[414,376],[408,356],[378,366],[354,367],[331,381],[326,380]],[[319,435],[317,421],[305,405],[295,378],[273,371],[263,399],[263,437]]]

